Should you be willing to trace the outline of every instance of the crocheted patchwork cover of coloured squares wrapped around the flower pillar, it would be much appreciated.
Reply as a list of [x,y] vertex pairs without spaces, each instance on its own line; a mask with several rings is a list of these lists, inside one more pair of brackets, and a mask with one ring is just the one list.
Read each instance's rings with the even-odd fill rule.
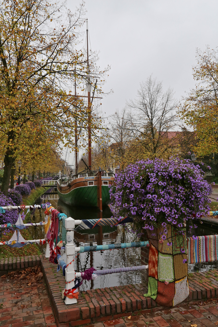
[[161,235],[162,228],[148,231],[148,293],[144,296],[170,307],[189,296],[186,231],[182,235],[167,226],[166,239]]

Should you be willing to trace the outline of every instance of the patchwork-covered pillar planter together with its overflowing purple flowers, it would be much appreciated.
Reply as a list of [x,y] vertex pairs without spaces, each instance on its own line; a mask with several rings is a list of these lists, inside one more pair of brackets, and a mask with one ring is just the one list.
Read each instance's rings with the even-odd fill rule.
[[176,305],[189,295],[186,222],[210,210],[211,186],[202,175],[190,160],[147,159],[118,173],[115,192],[110,189],[113,215],[140,218],[138,233],[147,231],[149,277],[144,296],[161,306]]

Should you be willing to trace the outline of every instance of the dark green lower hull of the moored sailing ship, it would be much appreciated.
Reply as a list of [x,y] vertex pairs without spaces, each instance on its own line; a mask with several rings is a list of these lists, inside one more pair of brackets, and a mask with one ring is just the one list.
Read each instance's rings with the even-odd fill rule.
[[[102,206],[110,203],[108,185],[101,186]],[[61,201],[73,206],[97,207],[97,185],[81,186],[71,190],[68,193],[60,193],[58,195]]]

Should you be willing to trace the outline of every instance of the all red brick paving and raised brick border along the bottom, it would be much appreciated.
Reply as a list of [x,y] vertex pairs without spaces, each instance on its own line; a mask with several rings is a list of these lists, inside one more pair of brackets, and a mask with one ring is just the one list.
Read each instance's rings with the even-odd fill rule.
[[[38,264],[38,260],[30,259],[28,258],[29,266]],[[1,278],[0,326],[218,326],[218,270],[191,274],[189,299],[175,308],[163,308],[152,299],[144,298],[146,287],[142,284],[80,292],[78,303],[66,306],[61,299],[61,291],[65,286],[64,277],[60,272],[57,273],[56,266],[47,259],[42,257],[40,261],[46,284],[42,273],[37,273],[40,271],[39,267],[26,268],[19,272],[23,274],[23,271],[35,270],[32,277],[9,279],[9,273]],[[56,322],[55,317],[58,318]]]

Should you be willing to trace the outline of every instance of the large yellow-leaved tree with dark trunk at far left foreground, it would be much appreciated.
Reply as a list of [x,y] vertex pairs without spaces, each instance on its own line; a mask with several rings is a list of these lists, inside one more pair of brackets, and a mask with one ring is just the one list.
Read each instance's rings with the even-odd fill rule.
[[[0,0],[0,140],[4,149],[1,190],[8,192],[11,169],[41,121],[66,146],[74,146],[75,120],[87,129],[88,112],[71,84],[82,85],[102,72],[90,67],[78,50],[84,4],[72,14],[65,3],[46,0]],[[92,79],[91,79],[92,80]],[[101,91],[99,91],[101,92]],[[94,116],[91,126],[98,126]],[[92,120],[92,121],[91,121]],[[36,131],[38,132],[38,131]],[[20,140],[20,141],[19,141]],[[43,144],[41,145],[43,147]]]

